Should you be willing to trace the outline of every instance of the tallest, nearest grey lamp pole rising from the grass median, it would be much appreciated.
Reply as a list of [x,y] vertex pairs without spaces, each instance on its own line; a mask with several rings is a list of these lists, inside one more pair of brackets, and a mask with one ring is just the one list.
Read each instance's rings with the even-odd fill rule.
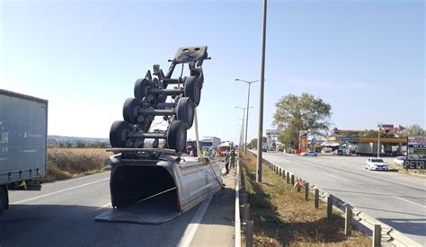
[[266,45],[266,9],[267,0],[263,0],[261,90],[259,99],[259,135],[257,137],[257,173],[256,181],[262,182],[262,137],[263,137],[263,93],[265,88],[265,45]]

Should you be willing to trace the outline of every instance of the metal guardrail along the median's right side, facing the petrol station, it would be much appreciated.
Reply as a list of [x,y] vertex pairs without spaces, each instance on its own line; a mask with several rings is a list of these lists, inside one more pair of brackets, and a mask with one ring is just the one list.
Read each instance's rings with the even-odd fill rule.
[[[254,156],[257,156],[257,154],[253,153],[252,150],[250,150],[250,152],[252,154],[254,154]],[[262,158],[263,162],[270,164],[271,166],[276,166],[282,170],[284,170],[282,167],[280,167],[279,165],[272,163],[264,158]],[[288,170],[285,170],[285,172],[288,172],[290,175],[294,175],[295,177],[300,177],[297,176],[297,174],[293,173],[293,172],[289,172]],[[305,184],[308,181],[302,180],[303,183]],[[349,203],[346,203],[345,201],[343,201],[341,198],[337,198],[335,196],[333,196],[332,194],[330,194],[328,191],[323,190],[317,186],[315,186],[315,184],[308,182],[309,183],[309,191],[311,193],[315,193],[315,189],[319,190],[319,198],[326,202],[327,198],[329,196],[333,197],[333,207],[335,209],[337,209],[341,214],[344,214],[345,212],[345,207],[350,206],[351,205]],[[362,210],[360,210],[357,207],[351,207],[352,208],[352,212],[353,212],[353,218],[352,218],[352,225],[355,225],[359,228],[359,231],[363,232],[364,234],[368,234],[368,231],[374,231],[374,225],[382,225],[382,238],[384,238],[385,242],[387,243],[393,243],[395,244],[395,246],[422,246],[419,243],[414,242],[412,239],[408,238],[407,236],[405,236],[404,234],[402,234],[401,232],[395,230],[395,228],[393,228],[390,225],[386,225],[385,223],[371,217],[368,216],[367,214],[365,214],[364,212],[362,212]]]

